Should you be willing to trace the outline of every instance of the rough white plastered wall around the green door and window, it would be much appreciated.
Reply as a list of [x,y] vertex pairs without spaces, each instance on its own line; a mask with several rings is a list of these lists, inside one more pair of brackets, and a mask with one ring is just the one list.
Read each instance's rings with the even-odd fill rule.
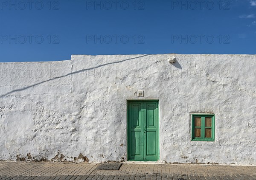
[[[255,55],[72,55],[0,73],[0,160],[126,161],[127,100],[159,99],[160,162],[256,164]],[[214,142],[191,141],[190,113],[215,114]]]

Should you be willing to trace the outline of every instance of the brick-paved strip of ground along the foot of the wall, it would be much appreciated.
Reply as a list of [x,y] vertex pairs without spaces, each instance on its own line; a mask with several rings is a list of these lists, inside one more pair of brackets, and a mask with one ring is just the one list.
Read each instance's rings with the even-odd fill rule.
[[256,166],[131,164],[95,170],[96,163],[0,161],[1,180],[256,180]]

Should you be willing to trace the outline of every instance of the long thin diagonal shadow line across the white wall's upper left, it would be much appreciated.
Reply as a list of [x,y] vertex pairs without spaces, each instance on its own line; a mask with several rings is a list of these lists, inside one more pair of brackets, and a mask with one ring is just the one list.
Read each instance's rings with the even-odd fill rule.
[[0,98],[3,97],[3,96],[9,95],[11,93],[17,92],[17,91],[22,91],[22,90],[29,89],[30,87],[34,87],[34,86],[42,84],[44,82],[52,81],[54,79],[59,79],[59,78],[62,78],[62,77],[70,76],[72,74],[81,73],[81,72],[84,72],[86,70],[92,70],[92,69],[100,68],[100,67],[105,66],[105,65],[111,65],[111,64],[116,64],[116,63],[120,63],[120,62],[125,62],[125,61],[128,61],[128,60],[137,59],[137,58],[145,57],[145,56],[148,56],[148,55],[149,54],[145,54],[143,56],[138,56],[138,57],[134,57],[134,58],[124,59],[122,61],[117,61],[117,62],[110,62],[110,63],[106,63],[106,64],[103,64],[103,65],[98,65],[98,66],[93,67],[93,68],[87,68],[87,69],[82,69],[82,70],[78,70],[78,71],[75,71],[75,72],[71,72],[71,73],[68,73],[66,75],[55,77],[55,78],[51,78],[51,79],[48,79],[48,80],[45,80],[45,81],[42,81],[42,82],[38,82],[36,84],[32,84],[32,85],[27,86],[27,87],[23,87],[23,88],[20,88],[20,89],[12,90],[12,91],[10,91],[8,93],[5,93],[5,94],[1,95]]

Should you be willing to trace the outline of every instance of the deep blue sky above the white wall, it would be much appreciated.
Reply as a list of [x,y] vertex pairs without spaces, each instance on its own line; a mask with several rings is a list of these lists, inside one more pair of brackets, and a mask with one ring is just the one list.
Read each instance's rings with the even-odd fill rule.
[[255,0],[1,0],[0,62],[256,54]]

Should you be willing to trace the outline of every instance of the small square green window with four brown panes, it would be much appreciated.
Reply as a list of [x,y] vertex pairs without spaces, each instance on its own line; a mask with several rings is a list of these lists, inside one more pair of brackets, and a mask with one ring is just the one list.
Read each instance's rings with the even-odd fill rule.
[[191,141],[215,140],[215,115],[192,114]]

